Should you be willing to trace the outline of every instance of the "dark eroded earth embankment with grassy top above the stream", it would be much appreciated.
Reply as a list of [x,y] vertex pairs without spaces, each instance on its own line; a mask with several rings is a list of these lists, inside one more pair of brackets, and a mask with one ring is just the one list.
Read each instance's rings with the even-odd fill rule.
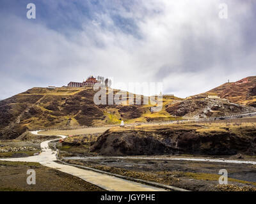
[[256,128],[198,131],[196,128],[156,128],[106,131],[92,145],[104,155],[256,154]]

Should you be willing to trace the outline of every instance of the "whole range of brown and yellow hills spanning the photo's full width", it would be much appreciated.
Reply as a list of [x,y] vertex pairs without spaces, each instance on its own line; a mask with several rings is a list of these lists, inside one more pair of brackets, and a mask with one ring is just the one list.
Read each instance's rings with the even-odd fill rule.
[[[224,84],[186,100],[164,96],[163,109],[159,112],[150,112],[153,105],[95,105],[93,96],[96,92],[90,87],[33,88],[0,101],[0,138],[17,138],[28,129],[102,126],[120,124],[121,120],[134,123],[220,117],[250,112],[253,107],[225,99],[204,98],[208,94],[218,94],[232,102],[255,106],[255,81],[256,77],[248,77],[246,83]],[[108,91],[115,94],[120,90]],[[140,97],[143,104],[143,96]]]

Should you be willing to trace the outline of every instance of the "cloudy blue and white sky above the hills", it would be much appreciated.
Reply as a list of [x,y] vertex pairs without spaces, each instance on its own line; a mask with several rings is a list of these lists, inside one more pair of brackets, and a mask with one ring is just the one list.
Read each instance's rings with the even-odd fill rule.
[[253,0],[1,0],[0,99],[90,75],[186,98],[256,75],[255,22]]

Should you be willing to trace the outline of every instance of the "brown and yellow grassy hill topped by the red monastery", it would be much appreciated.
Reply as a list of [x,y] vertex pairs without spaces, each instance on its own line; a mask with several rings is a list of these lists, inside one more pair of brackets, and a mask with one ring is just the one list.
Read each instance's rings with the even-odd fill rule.
[[[152,105],[95,105],[94,94],[89,87],[33,88],[4,99],[0,101],[0,138],[16,138],[27,129],[179,119],[164,109],[151,113]],[[165,98],[164,105],[173,99],[177,98]]]

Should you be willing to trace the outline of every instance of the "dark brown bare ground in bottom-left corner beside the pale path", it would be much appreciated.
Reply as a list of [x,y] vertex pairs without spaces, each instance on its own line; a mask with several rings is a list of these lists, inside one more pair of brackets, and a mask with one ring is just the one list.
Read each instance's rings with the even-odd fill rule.
[[[28,185],[27,170],[36,171],[36,184]],[[82,179],[39,163],[0,161],[0,191],[103,191]]]

